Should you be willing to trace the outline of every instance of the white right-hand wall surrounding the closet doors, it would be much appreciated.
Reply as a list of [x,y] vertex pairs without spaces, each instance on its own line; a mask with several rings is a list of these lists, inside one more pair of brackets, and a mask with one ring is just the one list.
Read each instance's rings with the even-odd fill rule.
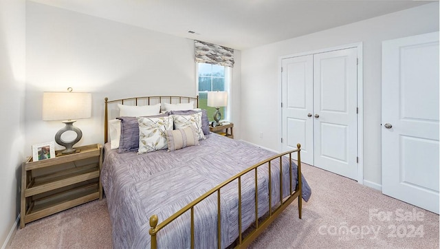
[[[298,24],[300,25],[300,23]],[[382,41],[439,30],[439,3],[429,3],[296,39],[241,52],[241,138],[276,151],[280,148],[280,56],[363,42],[364,180],[381,184]],[[259,133],[263,132],[263,138]]]

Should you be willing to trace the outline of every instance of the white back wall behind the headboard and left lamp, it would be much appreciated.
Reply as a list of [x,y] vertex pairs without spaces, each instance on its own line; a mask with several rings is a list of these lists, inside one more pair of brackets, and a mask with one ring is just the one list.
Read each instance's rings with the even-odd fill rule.
[[[32,144],[53,141],[64,126],[41,120],[43,91],[92,93],[92,118],[75,123],[83,131],[76,146],[103,142],[104,97],[196,95],[190,39],[30,1],[26,17],[25,153]],[[240,52],[235,55],[232,89],[238,98]],[[232,103],[239,108],[239,101]]]

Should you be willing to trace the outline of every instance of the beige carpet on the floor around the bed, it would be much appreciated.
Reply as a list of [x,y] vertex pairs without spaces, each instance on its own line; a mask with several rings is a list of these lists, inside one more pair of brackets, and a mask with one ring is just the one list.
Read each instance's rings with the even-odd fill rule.
[[[439,215],[304,165],[312,195],[294,202],[250,248],[439,248]],[[106,200],[34,221],[10,248],[111,248]]]

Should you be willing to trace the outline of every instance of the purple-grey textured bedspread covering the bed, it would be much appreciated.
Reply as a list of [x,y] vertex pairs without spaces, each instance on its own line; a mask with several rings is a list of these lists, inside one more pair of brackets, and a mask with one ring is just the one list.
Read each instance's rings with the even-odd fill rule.
[[[200,145],[178,151],[155,151],[137,155],[118,153],[104,146],[101,181],[107,196],[114,248],[149,248],[149,218],[159,223],[203,193],[244,169],[270,158],[275,153],[246,142],[211,133]],[[279,203],[279,161],[272,163],[272,206]],[[268,166],[258,171],[259,216],[269,210]],[[292,186],[296,186],[294,165]],[[254,171],[241,180],[242,226],[255,219]],[[238,183],[221,189],[221,247],[229,246],[239,234]],[[283,197],[289,194],[289,160],[283,158]],[[303,199],[311,190],[303,177]],[[157,234],[159,248],[189,248],[189,212]],[[195,207],[195,245],[217,248],[217,193]]]

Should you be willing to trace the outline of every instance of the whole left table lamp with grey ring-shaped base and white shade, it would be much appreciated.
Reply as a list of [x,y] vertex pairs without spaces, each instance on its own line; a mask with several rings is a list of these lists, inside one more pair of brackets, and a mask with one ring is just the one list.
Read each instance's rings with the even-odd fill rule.
[[[83,137],[83,132],[73,124],[75,119],[91,117],[91,94],[73,93],[72,87],[67,91],[43,93],[43,120],[64,120],[65,123],[65,127],[55,134],[55,142],[66,147],[61,151],[62,154],[79,152],[73,147]],[[74,131],[76,138],[72,141],[63,140],[61,135],[66,131]]]

